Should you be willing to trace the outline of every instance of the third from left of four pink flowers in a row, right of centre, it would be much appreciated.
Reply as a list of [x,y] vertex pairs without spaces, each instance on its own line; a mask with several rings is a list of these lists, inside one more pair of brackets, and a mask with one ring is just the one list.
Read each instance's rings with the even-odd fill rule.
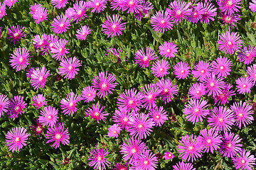
[[206,76],[210,76],[210,63],[205,61],[200,61],[195,65],[194,70],[192,70],[192,74],[194,77],[198,79],[198,81],[203,81]]

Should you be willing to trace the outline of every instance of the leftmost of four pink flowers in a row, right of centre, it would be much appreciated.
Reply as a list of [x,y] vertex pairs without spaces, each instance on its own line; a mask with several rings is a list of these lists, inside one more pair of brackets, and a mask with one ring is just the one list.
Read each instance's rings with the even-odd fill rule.
[[151,70],[155,77],[161,78],[169,74],[168,69],[170,68],[170,64],[166,60],[157,60],[151,67]]

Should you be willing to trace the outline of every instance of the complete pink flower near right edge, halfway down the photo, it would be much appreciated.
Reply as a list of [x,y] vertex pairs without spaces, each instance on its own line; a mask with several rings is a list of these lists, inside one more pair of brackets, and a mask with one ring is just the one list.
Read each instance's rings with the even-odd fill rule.
[[251,88],[254,85],[254,82],[250,77],[240,77],[236,81],[236,88],[238,89],[239,94],[250,94]]

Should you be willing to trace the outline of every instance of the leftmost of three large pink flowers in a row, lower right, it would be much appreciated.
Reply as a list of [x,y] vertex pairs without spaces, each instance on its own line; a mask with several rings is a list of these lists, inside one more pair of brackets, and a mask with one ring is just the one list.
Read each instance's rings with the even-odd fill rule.
[[203,100],[196,100],[196,99],[191,99],[191,101],[188,101],[188,104],[185,105],[184,108],[184,115],[186,116],[186,119],[188,121],[191,121],[191,123],[195,124],[198,121],[203,121],[203,118],[206,118],[206,116],[210,113],[208,109],[208,102],[203,101]]

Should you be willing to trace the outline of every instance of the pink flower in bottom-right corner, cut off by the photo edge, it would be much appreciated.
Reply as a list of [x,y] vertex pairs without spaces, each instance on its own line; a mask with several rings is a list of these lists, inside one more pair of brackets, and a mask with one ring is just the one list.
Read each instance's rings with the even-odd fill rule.
[[[256,1],[255,1],[256,3]],[[252,170],[253,167],[255,167],[255,161],[256,158],[253,154],[250,154],[250,151],[247,151],[245,149],[242,149],[241,152],[238,152],[238,156],[233,157],[233,164],[235,169],[241,169],[241,170]]]

